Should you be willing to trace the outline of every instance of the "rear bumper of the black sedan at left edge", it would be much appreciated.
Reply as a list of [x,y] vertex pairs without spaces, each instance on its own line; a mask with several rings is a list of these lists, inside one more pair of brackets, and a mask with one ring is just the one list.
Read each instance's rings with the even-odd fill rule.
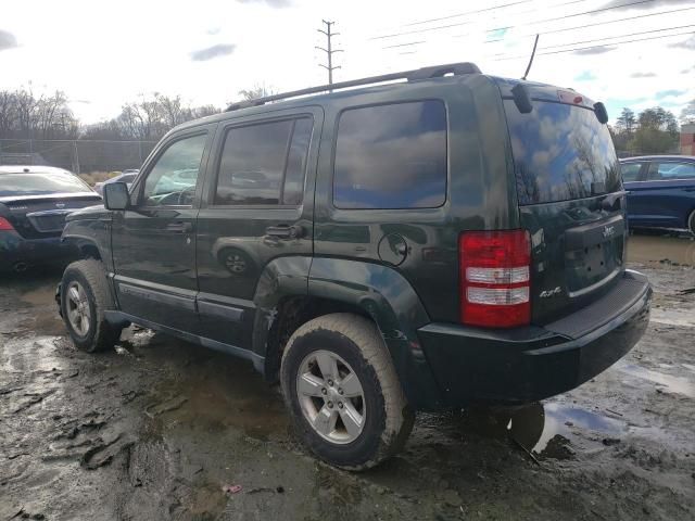
[[72,244],[61,238],[24,239],[15,231],[0,231],[0,270],[11,270],[21,265],[65,263],[78,255]]

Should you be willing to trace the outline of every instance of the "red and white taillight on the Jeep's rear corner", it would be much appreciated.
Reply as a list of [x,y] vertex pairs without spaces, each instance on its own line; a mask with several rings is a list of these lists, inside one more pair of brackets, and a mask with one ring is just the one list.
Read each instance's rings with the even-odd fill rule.
[[526,230],[466,231],[458,238],[460,321],[513,328],[531,321],[531,241]]

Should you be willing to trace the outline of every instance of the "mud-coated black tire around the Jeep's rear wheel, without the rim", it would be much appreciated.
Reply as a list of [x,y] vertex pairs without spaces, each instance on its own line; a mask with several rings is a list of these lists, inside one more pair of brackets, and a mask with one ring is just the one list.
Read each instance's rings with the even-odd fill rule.
[[[298,374],[313,352],[337,354],[357,376],[364,391],[362,432],[346,444],[321,437],[302,411]],[[324,461],[365,470],[397,453],[407,440],[414,414],[407,405],[389,352],[374,322],[352,314],[331,314],[300,327],[282,355],[280,380],[287,407],[303,444]]]

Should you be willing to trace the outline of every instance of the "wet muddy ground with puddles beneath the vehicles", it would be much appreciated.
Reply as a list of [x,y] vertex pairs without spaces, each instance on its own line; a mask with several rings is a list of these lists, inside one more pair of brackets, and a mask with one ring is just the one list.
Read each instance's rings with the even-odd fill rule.
[[623,360],[542,404],[420,415],[405,452],[362,474],[308,456],[249,363],[134,328],[84,354],[59,271],[4,278],[0,521],[692,520],[695,242],[633,236],[629,255],[656,297]]

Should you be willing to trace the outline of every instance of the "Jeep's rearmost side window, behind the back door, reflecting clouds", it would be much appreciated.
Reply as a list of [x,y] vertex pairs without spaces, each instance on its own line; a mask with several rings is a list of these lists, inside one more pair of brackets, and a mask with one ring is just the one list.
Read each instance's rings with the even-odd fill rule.
[[441,206],[446,165],[441,101],[348,110],[338,124],[333,204],[351,209]]

